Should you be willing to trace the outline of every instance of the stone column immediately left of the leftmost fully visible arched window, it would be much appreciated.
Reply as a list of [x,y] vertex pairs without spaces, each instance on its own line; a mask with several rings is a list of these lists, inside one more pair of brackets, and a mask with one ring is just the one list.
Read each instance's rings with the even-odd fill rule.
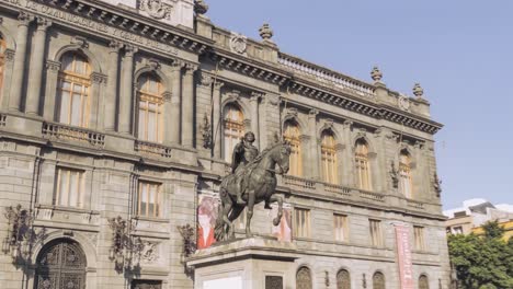
[[52,22],[45,18],[36,18],[37,30],[34,36],[34,50],[31,51],[31,69],[29,72],[29,92],[26,94],[25,112],[31,115],[39,114],[43,84],[43,66],[45,60],[46,31]]

